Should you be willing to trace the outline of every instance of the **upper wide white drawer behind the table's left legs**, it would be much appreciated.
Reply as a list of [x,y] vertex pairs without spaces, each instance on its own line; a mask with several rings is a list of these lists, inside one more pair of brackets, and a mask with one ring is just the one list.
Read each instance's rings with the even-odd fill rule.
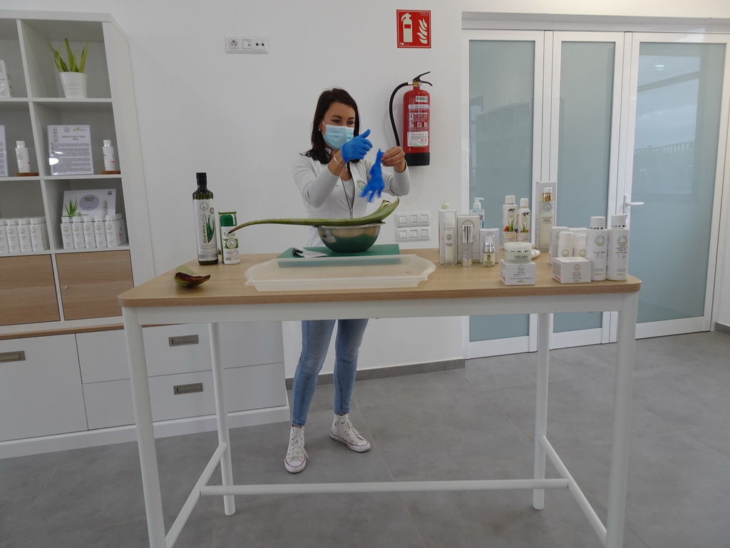
[[[187,392],[201,384],[202,392]],[[247,411],[287,405],[284,364],[252,365],[223,371],[223,397],[228,411]],[[175,393],[180,388],[180,394]],[[134,424],[131,383],[128,380],[84,385],[90,429]],[[215,414],[211,371],[150,378],[153,420],[183,419]]]

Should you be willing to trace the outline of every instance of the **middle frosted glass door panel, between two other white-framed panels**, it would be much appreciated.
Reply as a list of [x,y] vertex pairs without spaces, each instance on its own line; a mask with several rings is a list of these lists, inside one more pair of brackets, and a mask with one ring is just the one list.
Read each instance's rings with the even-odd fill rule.
[[[588,227],[591,216],[609,218],[615,202],[623,34],[556,32],[553,42],[549,180],[558,182],[556,225]],[[608,342],[609,317],[556,314],[553,347]]]

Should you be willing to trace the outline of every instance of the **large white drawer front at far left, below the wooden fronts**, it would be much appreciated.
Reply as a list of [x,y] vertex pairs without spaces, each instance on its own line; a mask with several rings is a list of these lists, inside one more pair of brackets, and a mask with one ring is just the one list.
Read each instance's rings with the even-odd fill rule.
[[0,441],[86,430],[74,335],[0,340],[0,416]]

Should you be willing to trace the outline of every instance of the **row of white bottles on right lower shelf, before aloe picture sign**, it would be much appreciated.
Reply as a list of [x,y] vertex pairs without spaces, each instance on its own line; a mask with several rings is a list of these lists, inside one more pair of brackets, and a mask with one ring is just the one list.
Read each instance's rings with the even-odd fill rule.
[[61,222],[64,249],[115,248],[127,242],[127,228],[121,213],[64,217]]

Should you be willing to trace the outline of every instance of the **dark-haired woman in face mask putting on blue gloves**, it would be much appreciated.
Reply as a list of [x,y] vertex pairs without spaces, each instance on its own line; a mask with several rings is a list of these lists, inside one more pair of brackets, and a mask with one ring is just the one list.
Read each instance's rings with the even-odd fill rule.
[[[360,133],[360,116],[355,100],[343,89],[320,95],[312,122],[312,148],[294,163],[296,186],[311,218],[356,218],[366,215],[367,198],[362,196],[371,167],[365,159],[372,148],[370,130]],[[385,191],[404,196],[410,190],[405,154],[400,147],[383,153],[381,164],[392,167],[383,172]],[[310,228],[307,246],[323,246],[317,229]],[[291,431],[284,461],[291,473],[304,470],[304,424],[312,403],[317,377],[327,355],[335,320],[301,322],[301,355],[292,387]],[[370,443],[353,427],[348,414],[355,384],[358,349],[367,319],[337,321],[334,362],[334,421],[330,437],[356,452],[370,449]]]

